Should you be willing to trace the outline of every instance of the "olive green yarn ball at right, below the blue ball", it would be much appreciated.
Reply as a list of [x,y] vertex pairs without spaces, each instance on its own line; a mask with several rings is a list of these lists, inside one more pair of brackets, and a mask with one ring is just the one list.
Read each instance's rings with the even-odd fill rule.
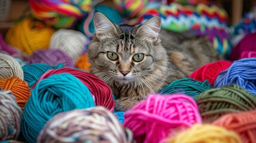
[[238,85],[202,92],[195,98],[204,123],[212,123],[224,114],[254,110],[256,97]]

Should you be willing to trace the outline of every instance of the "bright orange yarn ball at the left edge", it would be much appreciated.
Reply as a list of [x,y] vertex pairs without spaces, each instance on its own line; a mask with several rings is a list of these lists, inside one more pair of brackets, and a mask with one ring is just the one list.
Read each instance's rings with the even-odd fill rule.
[[31,95],[27,82],[19,79],[16,76],[13,76],[10,79],[0,79],[0,88],[5,91],[10,90],[16,97],[18,105],[23,110],[27,100],[29,100]]

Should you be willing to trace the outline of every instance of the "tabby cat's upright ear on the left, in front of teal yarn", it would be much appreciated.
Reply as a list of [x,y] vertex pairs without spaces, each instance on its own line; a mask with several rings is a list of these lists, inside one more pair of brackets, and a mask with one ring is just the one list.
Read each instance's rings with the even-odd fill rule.
[[115,25],[103,14],[94,14],[95,34],[99,40],[111,36],[111,33],[116,32]]

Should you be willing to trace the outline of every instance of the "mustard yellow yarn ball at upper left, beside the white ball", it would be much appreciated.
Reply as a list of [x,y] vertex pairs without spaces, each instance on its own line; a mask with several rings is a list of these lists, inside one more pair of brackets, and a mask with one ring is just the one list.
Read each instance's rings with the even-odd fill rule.
[[38,49],[47,49],[53,33],[52,27],[46,26],[41,21],[26,18],[11,27],[5,39],[11,46],[30,55]]

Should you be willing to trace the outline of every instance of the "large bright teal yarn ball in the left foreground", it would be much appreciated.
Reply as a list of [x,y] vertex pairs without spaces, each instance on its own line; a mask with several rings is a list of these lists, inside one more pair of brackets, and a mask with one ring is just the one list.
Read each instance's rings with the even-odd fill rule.
[[24,107],[21,130],[27,142],[36,142],[39,132],[55,114],[95,107],[87,86],[69,73],[53,74],[32,89]]

